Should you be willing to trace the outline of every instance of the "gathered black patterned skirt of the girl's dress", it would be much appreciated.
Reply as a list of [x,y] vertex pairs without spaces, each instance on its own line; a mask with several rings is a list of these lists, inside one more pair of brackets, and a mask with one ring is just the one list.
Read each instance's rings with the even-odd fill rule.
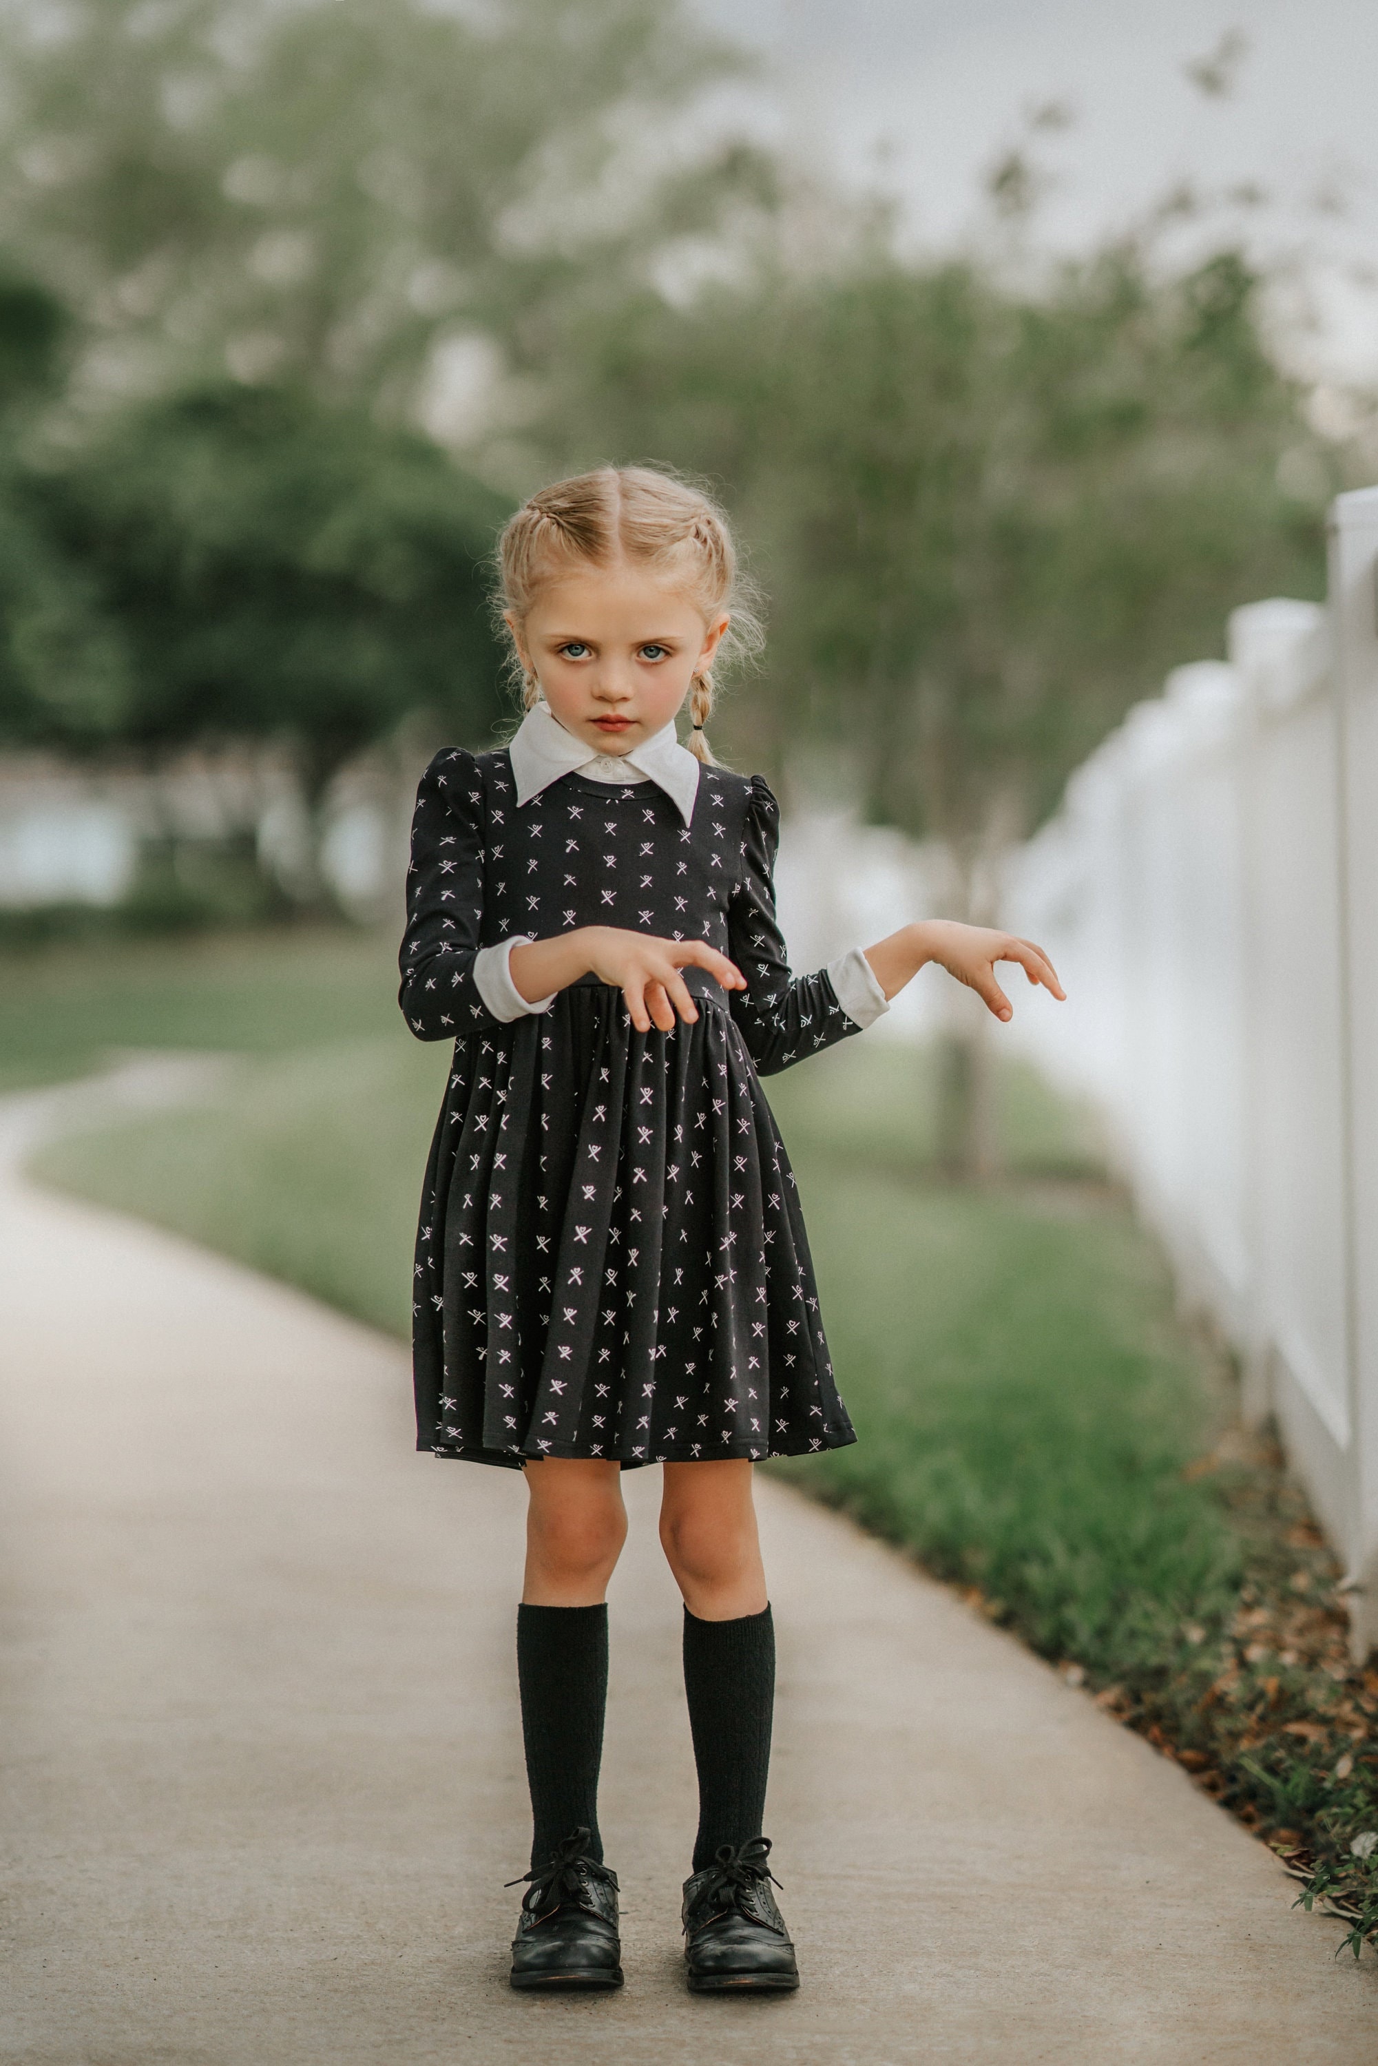
[[417,1448],[521,1469],[855,1440],[775,1118],[721,1002],[603,983],[455,1050],[415,1258]]

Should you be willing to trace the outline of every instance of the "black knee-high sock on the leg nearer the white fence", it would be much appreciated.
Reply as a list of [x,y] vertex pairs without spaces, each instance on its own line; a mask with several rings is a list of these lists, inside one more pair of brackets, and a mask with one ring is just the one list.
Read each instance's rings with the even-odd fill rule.
[[684,1692],[698,1766],[694,1872],[702,1872],[723,1843],[760,1837],[775,1713],[771,1609],[700,1622],[686,1607]]

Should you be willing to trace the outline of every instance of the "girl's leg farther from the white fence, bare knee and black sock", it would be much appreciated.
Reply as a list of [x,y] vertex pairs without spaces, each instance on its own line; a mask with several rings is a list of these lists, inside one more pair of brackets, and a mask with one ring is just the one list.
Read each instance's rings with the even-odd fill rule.
[[516,1678],[531,1785],[531,1868],[597,1826],[607,1704],[603,1595],[626,1539],[616,1463],[543,1457],[527,1465],[527,1578],[516,1609]]

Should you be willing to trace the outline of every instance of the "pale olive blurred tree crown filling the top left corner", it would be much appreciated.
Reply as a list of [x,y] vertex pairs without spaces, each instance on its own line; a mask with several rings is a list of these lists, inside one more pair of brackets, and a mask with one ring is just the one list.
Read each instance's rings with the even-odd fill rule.
[[738,60],[678,0],[0,0],[0,231],[124,390],[229,362],[405,415],[444,339],[527,364],[591,273],[769,190],[694,143]]

